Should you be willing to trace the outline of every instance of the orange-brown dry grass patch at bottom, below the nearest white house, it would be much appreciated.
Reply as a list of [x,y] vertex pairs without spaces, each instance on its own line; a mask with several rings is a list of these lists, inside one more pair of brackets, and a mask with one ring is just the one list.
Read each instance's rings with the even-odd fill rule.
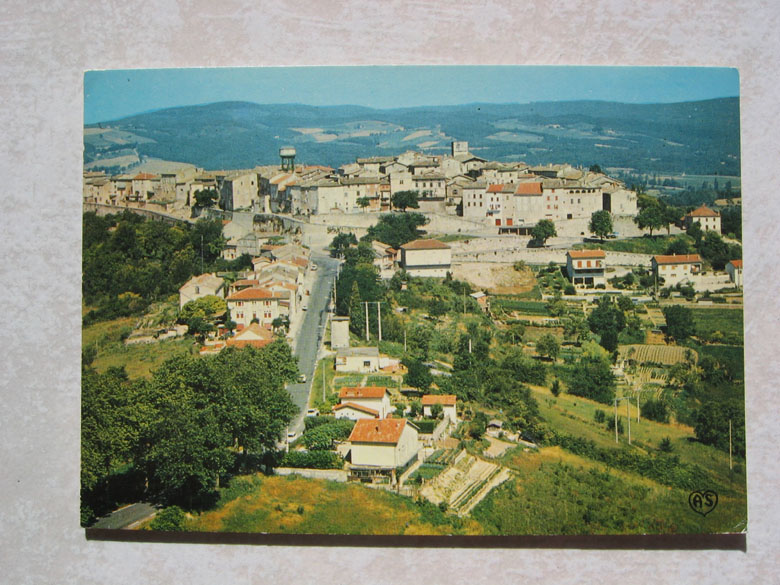
[[473,520],[445,516],[433,505],[359,484],[295,475],[235,478],[215,510],[186,530],[276,534],[480,534]]

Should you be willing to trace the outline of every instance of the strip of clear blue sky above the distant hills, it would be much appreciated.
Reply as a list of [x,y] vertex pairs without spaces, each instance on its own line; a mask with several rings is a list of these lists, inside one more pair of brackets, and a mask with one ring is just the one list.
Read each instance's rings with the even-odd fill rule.
[[739,95],[736,69],[705,67],[263,67],[88,71],[87,124],[219,101],[397,108],[474,102],[668,103]]

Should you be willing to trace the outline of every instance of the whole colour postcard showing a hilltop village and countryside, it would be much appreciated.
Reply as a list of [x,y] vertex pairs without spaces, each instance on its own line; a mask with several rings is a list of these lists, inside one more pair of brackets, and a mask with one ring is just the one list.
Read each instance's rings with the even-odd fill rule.
[[82,526],[747,530],[735,69],[84,86]]

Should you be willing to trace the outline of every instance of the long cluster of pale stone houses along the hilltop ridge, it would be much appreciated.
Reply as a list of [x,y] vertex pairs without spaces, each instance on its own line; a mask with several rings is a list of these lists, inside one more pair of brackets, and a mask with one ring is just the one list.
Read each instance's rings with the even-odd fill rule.
[[192,207],[195,194],[204,190],[216,192],[226,211],[296,215],[389,211],[395,193],[414,191],[421,211],[459,214],[510,230],[544,218],[590,217],[598,209],[617,215],[637,211],[636,193],[603,173],[488,161],[463,141],[453,142],[448,155],[410,150],[357,158],[338,169],[283,161],[231,171],[181,165],[158,173],[84,174],[84,199],[94,203]]

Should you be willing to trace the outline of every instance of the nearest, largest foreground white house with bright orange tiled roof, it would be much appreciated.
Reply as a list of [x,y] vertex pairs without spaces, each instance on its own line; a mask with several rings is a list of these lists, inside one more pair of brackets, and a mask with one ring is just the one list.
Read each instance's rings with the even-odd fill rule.
[[404,418],[358,420],[349,443],[353,473],[355,467],[394,470],[420,451],[417,428]]

